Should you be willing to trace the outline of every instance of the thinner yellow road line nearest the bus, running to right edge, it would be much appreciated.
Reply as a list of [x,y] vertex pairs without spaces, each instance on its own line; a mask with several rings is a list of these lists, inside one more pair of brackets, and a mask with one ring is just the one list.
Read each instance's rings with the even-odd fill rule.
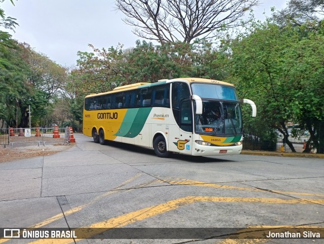
[[[264,190],[257,189],[257,188],[247,188],[247,187],[238,187],[238,186],[228,186],[228,185],[220,185],[215,183],[206,183],[201,181],[192,181],[187,179],[179,179],[180,181],[168,181],[166,182],[173,184],[173,185],[195,185],[195,186],[202,186],[202,187],[214,187],[226,190],[239,190],[239,191],[259,191],[264,192]],[[316,194],[316,193],[305,193],[305,192],[289,192],[289,191],[276,191],[270,190],[274,193],[281,193],[281,194],[292,194],[292,195],[302,195],[302,196],[318,196],[324,197],[323,194]]]

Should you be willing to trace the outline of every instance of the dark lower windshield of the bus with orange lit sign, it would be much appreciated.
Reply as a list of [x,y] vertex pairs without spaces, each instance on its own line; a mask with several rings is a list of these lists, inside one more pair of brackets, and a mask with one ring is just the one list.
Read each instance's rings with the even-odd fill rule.
[[203,100],[203,114],[195,115],[198,134],[241,134],[242,119],[239,103]]

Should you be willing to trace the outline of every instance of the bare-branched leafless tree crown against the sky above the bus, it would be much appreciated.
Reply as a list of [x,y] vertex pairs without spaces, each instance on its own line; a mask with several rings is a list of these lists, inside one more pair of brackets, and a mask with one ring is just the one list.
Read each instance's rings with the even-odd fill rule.
[[224,27],[249,21],[241,18],[257,4],[258,0],[116,0],[134,34],[161,45],[218,37]]

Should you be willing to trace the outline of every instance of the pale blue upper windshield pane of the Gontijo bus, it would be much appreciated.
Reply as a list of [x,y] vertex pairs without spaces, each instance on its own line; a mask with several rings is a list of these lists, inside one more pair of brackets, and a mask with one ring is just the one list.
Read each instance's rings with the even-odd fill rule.
[[201,98],[238,100],[234,87],[207,83],[193,83],[191,84],[191,88],[192,94],[198,95]]

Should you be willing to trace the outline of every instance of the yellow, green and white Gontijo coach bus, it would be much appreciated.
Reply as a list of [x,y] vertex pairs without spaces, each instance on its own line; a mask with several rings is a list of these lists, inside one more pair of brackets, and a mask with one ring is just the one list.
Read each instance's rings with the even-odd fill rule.
[[83,133],[104,145],[114,141],[193,156],[240,154],[241,103],[234,85],[179,78],[136,83],[85,97]]

